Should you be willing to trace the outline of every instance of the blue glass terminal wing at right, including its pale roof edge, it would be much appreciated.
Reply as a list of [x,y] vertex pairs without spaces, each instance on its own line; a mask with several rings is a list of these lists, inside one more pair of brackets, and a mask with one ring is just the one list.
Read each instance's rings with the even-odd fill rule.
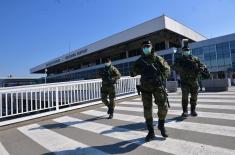
[[235,33],[189,45],[192,54],[206,64],[213,78],[235,79]]

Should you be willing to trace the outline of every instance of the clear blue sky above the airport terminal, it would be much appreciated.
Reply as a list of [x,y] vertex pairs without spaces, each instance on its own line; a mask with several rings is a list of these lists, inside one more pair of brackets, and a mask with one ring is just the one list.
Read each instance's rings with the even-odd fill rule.
[[162,14],[208,38],[235,33],[234,0],[0,0],[0,77]]

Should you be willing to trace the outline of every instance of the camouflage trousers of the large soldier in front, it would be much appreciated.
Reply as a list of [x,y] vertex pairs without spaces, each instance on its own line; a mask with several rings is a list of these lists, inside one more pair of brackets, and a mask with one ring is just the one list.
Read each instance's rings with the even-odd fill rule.
[[153,96],[155,99],[154,102],[158,106],[158,118],[160,120],[165,120],[168,111],[168,106],[166,103],[167,96],[164,94],[164,90],[161,87],[156,87],[151,92],[142,90],[141,93],[144,106],[144,118],[146,122],[148,120],[153,120]]

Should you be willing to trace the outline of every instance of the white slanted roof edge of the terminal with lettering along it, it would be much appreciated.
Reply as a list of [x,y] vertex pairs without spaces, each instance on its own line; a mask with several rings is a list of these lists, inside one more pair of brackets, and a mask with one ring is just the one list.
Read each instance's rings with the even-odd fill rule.
[[180,34],[186,38],[189,38],[193,41],[201,41],[207,39],[206,37],[202,36],[201,34],[191,30],[190,28],[184,26],[183,24],[167,17],[167,16],[160,16],[158,18],[154,18],[142,24],[139,24],[135,27],[122,31],[120,33],[114,34],[110,37],[105,39],[99,40],[95,43],[82,47],[80,49],[74,50],[70,53],[62,55],[58,58],[55,58],[51,61],[43,63],[39,66],[30,69],[31,73],[38,72],[40,70],[44,70],[46,68],[70,61],[72,59],[76,59],[102,49],[112,47],[124,42],[128,42],[135,38],[139,38],[141,36],[145,36],[157,31],[161,30],[170,30],[177,34]]

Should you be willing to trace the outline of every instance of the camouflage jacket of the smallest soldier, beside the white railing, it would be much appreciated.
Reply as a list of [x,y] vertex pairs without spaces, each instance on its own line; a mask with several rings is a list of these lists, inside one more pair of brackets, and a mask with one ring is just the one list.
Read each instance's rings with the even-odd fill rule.
[[102,84],[110,85],[115,84],[118,79],[120,79],[121,74],[116,67],[110,65],[109,67],[104,67],[100,72],[99,76],[102,78]]

